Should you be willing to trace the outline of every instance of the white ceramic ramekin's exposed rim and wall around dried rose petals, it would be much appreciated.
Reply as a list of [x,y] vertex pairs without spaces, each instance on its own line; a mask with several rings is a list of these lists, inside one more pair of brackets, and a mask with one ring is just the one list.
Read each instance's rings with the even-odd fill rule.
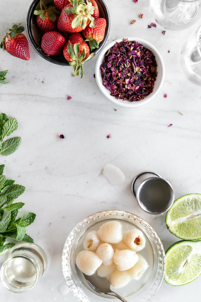
[[129,100],[124,100],[122,101],[121,99],[117,99],[114,96],[110,95],[110,91],[104,86],[102,85],[102,78],[101,78],[101,72],[100,72],[100,65],[102,64],[102,61],[104,59],[105,53],[107,53],[107,51],[115,45],[116,42],[120,43],[123,41],[123,38],[117,39],[115,41],[112,41],[111,43],[109,43],[100,53],[97,62],[96,62],[96,82],[97,85],[100,89],[100,91],[102,92],[102,94],[108,98],[110,101],[114,102],[115,104],[119,105],[119,106],[123,106],[123,107],[137,107],[143,104],[146,104],[147,102],[149,102],[152,98],[154,98],[157,93],[159,92],[159,90],[161,89],[164,77],[165,77],[165,66],[163,63],[163,59],[162,56],[160,55],[159,51],[148,41],[143,40],[141,38],[137,38],[137,37],[125,37],[125,39],[128,39],[130,41],[137,41],[140,44],[142,44],[144,47],[146,47],[147,49],[151,50],[151,52],[154,54],[156,62],[157,62],[157,77],[156,77],[156,81],[154,83],[154,87],[153,87],[153,92],[150,93],[149,95],[147,95],[142,101],[129,101]]

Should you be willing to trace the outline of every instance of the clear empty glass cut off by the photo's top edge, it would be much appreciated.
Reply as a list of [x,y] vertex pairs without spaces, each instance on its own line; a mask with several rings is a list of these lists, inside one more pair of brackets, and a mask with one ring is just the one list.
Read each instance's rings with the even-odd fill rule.
[[149,0],[155,21],[161,26],[180,30],[201,17],[201,0]]

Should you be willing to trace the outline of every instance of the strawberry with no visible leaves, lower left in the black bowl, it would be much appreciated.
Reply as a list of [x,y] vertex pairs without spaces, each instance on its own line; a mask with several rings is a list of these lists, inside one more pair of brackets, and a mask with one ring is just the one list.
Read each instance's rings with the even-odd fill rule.
[[48,56],[62,53],[64,45],[65,38],[57,31],[48,31],[42,36],[41,48]]

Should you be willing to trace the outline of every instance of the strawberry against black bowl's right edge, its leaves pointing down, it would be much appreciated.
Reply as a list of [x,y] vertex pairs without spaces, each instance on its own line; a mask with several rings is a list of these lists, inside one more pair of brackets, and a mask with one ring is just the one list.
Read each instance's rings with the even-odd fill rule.
[[90,47],[92,49],[98,48],[99,43],[104,39],[106,20],[104,18],[96,18],[94,20],[96,27],[90,27],[89,25],[83,30],[83,37],[89,41]]

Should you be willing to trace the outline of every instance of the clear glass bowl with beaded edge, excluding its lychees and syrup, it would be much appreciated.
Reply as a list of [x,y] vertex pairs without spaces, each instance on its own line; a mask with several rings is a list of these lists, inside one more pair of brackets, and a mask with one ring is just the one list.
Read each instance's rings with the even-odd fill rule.
[[[98,295],[89,288],[81,272],[76,271],[75,259],[77,246],[83,234],[96,223],[103,220],[122,220],[140,228],[149,239],[153,253],[153,268],[148,281],[139,291],[127,296],[130,302],[149,301],[158,291],[165,272],[165,252],[161,240],[153,228],[142,218],[121,210],[105,210],[86,217],[78,223],[69,234],[62,253],[62,269],[66,283],[71,292],[80,302],[103,302],[111,298]],[[132,281],[131,281],[132,282]]]

